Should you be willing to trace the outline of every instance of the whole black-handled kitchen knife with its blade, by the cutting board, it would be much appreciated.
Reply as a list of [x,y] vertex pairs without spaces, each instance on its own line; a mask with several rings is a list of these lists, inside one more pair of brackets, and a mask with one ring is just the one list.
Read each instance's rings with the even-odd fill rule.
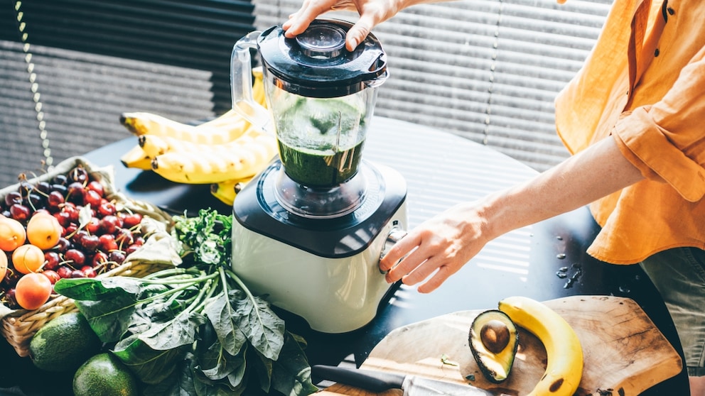
[[389,389],[402,389],[404,396],[495,396],[495,393],[473,385],[449,383],[430,378],[388,373],[386,371],[345,368],[334,365],[313,365],[311,373],[325,380],[361,387],[380,393]]

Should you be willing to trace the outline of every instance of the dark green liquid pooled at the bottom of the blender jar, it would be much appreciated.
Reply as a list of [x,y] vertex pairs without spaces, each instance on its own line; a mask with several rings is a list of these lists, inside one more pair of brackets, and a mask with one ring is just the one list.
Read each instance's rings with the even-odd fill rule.
[[279,142],[279,158],[286,175],[306,187],[333,187],[357,173],[362,157],[361,141],[353,148],[326,155],[320,151],[291,148]]

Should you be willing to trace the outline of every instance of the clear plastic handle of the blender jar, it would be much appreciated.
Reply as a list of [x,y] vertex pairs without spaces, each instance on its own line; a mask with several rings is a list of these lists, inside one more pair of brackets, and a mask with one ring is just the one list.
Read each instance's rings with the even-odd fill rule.
[[249,50],[257,49],[257,38],[262,32],[253,31],[237,40],[230,56],[230,91],[232,109],[265,132],[271,131],[269,111],[252,97],[252,57]]

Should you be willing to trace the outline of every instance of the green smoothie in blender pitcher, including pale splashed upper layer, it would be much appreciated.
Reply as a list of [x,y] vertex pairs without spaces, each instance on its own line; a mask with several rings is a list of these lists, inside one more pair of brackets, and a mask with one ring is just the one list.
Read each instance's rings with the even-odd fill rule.
[[306,187],[332,187],[357,173],[364,114],[346,101],[298,99],[276,120],[286,175]]

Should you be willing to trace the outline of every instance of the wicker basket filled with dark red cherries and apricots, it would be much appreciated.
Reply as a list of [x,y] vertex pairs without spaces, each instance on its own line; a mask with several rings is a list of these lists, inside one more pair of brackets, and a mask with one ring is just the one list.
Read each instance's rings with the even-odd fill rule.
[[[173,266],[171,217],[114,190],[112,168],[69,158],[0,189],[0,330],[19,356],[48,321],[76,311],[62,277],[141,277]],[[161,253],[163,252],[163,253]]]

